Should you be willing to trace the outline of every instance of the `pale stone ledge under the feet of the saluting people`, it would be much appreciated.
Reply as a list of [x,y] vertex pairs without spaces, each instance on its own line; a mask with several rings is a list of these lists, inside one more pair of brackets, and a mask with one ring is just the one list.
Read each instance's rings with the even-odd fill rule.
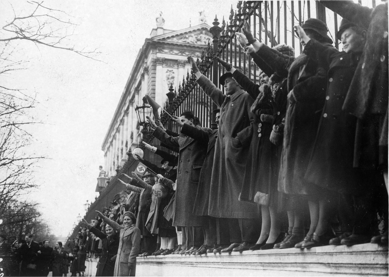
[[137,258],[137,276],[388,276],[388,247],[366,243],[312,249]]

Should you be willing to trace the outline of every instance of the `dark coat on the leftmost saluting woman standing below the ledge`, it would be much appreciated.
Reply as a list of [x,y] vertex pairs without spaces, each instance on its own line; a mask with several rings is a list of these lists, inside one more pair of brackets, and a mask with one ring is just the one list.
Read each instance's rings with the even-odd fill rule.
[[103,249],[97,264],[96,276],[113,276],[115,259],[119,248],[119,236],[115,234],[111,238],[108,238],[106,234],[95,227],[91,227],[89,230],[103,242]]

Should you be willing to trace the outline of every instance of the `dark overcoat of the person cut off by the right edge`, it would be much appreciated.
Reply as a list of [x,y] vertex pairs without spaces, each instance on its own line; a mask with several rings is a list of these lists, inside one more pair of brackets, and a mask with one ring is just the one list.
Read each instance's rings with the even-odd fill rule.
[[[341,17],[368,30],[343,109],[358,118],[354,167],[388,166],[388,3],[375,9],[353,1],[322,1]],[[385,146],[380,148],[379,146]]]

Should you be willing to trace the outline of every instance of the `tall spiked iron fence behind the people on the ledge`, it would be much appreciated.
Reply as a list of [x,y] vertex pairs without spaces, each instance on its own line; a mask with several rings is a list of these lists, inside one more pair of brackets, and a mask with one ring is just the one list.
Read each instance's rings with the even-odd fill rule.
[[[375,7],[375,0],[363,2],[359,0],[358,2]],[[226,71],[224,67],[213,60],[214,56],[219,56],[235,68],[242,70],[253,82],[258,82],[258,67],[237,43],[236,32],[242,31],[244,21],[249,22],[251,32],[255,34],[260,42],[269,47],[277,44],[291,45],[295,49],[296,56],[298,56],[303,49],[299,38],[294,33],[294,26],[301,25],[309,17],[316,17],[327,23],[329,36],[335,42],[335,47],[339,49],[341,45],[336,40],[336,32],[341,17],[316,1],[238,1],[236,9],[231,7],[228,21],[223,17],[221,26],[219,26],[219,20],[214,19],[213,26],[210,28],[212,44],[209,42],[202,55],[197,57],[198,68],[223,92],[224,87],[220,86],[218,82],[219,77]],[[172,101],[166,103],[164,108],[170,114],[176,116],[184,111],[193,111],[195,116],[199,118],[201,126],[210,127],[214,121],[212,110],[216,106],[212,103],[210,97],[201,91],[195,80],[195,74],[188,71],[183,76],[177,91],[170,87],[169,92],[173,92],[175,97]],[[161,113],[160,121],[165,128],[179,133],[179,128],[172,121],[169,121],[169,116],[165,112]],[[143,141],[172,153],[170,150],[159,146],[159,141],[152,137],[151,130],[143,130]],[[141,143],[139,147],[145,149]],[[161,159],[148,150],[144,150],[144,158],[156,165],[159,164]],[[121,173],[130,175],[132,171],[135,171],[137,164],[138,161],[129,156],[124,166],[118,168],[117,175],[111,178],[107,188],[91,204],[85,216],[86,220],[89,221],[95,217],[95,210],[102,210],[104,207],[111,206],[110,202],[113,200],[113,196],[125,189],[124,185],[117,181],[117,178]],[[71,238],[77,235],[79,226],[73,230]]]

